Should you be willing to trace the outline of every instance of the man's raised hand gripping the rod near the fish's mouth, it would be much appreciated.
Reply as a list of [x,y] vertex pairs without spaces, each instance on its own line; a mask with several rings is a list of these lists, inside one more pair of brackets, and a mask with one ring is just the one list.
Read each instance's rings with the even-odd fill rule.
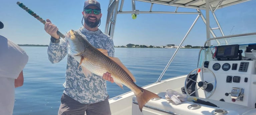
[[57,26],[52,24],[49,19],[46,19],[46,23],[44,24],[44,30],[52,37],[59,39],[59,35],[57,34],[57,31],[59,29],[57,28]]

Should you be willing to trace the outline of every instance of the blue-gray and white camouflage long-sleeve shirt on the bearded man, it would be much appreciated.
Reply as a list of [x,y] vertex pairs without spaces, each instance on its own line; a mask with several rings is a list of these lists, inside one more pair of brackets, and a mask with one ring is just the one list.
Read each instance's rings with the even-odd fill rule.
[[[76,32],[85,35],[95,48],[105,49],[109,56],[114,57],[113,39],[102,33],[100,29],[88,31],[81,27]],[[68,54],[67,38],[61,39],[59,43],[50,42],[47,54],[51,63],[58,63],[68,55],[66,81],[63,84],[64,94],[84,104],[104,101],[107,98],[106,81],[102,76],[93,73],[87,76],[83,74],[81,67],[78,68],[79,63]]]

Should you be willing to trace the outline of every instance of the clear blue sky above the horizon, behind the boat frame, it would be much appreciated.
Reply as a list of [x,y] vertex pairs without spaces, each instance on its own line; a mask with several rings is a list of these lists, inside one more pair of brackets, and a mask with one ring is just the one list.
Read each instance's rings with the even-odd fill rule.
[[[102,18],[100,29],[104,32],[106,24],[108,0],[98,0],[101,3]],[[44,31],[44,25],[21,9],[16,0],[3,0],[0,4],[0,21],[4,28],[0,35],[16,44],[47,45],[50,36]],[[82,9],[84,0],[21,0],[19,1],[34,11],[44,20],[50,19],[59,31],[65,33],[70,29],[76,30],[82,26]],[[123,11],[131,10],[131,0],[125,0]],[[149,3],[136,1],[136,9],[149,11]],[[216,11],[225,35],[256,32],[256,0],[226,7]],[[176,7],[154,5],[153,11],[174,11]],[[179,8],[178,11],[195,11]],[[212,15],[210,14],[212,17]],[[115,46],[129,43],[139,45],[163,46],[179,45],[186,35],[197,15],[179,14],[139,14],[132,19],[131,14],[117,15],[114,32]],[[213,28],[217,27],[211,19]],[[233,28],[233,30],[232,30]],[[232,30],[232,31],[231,31]],[[185,40],[183,46],[203,46],[206,40],[206,27],[200,18]],[[220,35],[219,31],[215,31]]]

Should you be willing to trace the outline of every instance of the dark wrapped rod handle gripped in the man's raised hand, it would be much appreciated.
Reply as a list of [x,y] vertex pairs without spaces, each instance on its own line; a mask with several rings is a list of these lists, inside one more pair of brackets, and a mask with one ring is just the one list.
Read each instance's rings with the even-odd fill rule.
[[[26,7],[23,3],[20,3],[20,2],[17,2],[17,4],[22,8],[24,9],[25,11],[27,11],[31,16],[33,16],[34,18],[36,18],[37,20],[39,20],[41,23],[45,24],[46,21],[43,20],[40,16],[38,16],[36,13],[34,13],[32,10],[28,9],[28,7]],[[59,31],[57,31],[57,34],[62,37],[62,38],[65,38],[65,36],[60,33]]]

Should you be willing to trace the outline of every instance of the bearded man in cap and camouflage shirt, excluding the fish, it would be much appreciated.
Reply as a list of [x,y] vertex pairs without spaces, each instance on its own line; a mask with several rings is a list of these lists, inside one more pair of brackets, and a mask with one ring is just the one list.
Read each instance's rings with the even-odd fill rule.
[[[83,35],[96,48],[105,49],[109,56],[114,57],[114,44],[112,38],[98,29],[102,16],[100,3],[96,0],[84,2],[83,26],[76,30]],[[51,63],[58,63],[68,54],[69,43],[67,37],[59,39],[58,28],[46,20],[45,31],[51,35],[47,53]],[[66,81],[63,84],[64,91],[61,97],[61,104],[58,115],[111,115],[108,94],[106,91],[106,81],[113,83],[109,73],[104,73],[103,77],[95,75],[88,70],[82,70],[70,54],[67,57]]]

